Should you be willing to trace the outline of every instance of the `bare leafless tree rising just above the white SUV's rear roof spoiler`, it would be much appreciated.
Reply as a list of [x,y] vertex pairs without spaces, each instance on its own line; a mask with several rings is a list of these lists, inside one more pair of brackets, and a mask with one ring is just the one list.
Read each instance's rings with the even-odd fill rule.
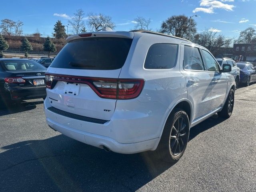
[[105,27],[110,27],[114,29],[116,26],[114,22],[112,22],[112,18],[110,16],[104,14],[94,14],[90,13],[87,15],[88,21],[87,25],[91,28],[92,31],[99,31],[104,29]]

